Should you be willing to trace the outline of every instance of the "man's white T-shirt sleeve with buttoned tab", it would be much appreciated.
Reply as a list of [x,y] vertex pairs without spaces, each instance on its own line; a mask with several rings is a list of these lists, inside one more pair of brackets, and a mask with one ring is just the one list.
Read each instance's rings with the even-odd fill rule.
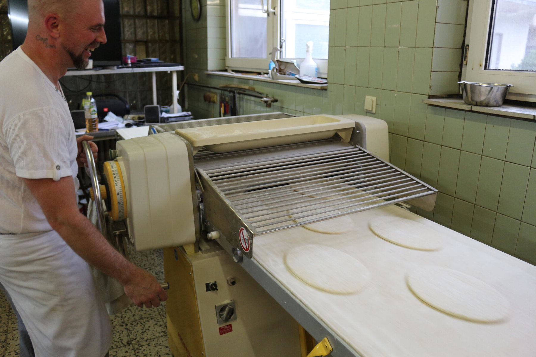
[[21,113],[4,125],[4,135],[18,177],[51,178],[72,176],[70,145],[54,108]]

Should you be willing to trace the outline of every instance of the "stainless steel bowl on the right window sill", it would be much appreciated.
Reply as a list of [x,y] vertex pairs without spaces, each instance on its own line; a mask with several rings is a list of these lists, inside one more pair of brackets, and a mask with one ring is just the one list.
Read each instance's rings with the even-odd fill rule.
[[461,85],[461,94],[464,102],[482,107],[500,107],[508,94],[511,84],[458,82]]

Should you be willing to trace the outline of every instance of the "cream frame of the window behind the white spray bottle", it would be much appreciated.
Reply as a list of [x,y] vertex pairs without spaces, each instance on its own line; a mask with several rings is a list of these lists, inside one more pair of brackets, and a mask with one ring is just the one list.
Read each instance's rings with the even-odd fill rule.
[[[271,12],[268,14],[266,22],[266,58],[243,58],[243,57],[231,57],[231,0],[226,0],[226,51],[225,51],[225,67],[228,70],[247,70],[254,72],[267,73],[268,66],[271,60],[271,52],[274,47],[280,47],[281,39],[281,22],[280,19],[280,9],[281,1],[284,0],[274,0],[273,3],[268,0],[264,0],[264,6],[267,6],[266,3],[271,4]],[[259,0],[260,2],[260,0]],[[314,53],[314,47],[313,47]],[[283,58],[284,60],[296,60],[298,65],[304,60],[304,58]],[[314,58],[316,65],[318,66],[318,76],[327,77],[327,59],[317,59]]]

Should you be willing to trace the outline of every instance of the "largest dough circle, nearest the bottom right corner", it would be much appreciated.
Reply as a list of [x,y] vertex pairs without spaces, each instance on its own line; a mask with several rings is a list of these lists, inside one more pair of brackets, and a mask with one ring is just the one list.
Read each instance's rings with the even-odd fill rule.
[[500,292],[457,270],[421,267],[406,275],[406,283],[427,305],[463,320],[492,323],[510,315],[510,303]]

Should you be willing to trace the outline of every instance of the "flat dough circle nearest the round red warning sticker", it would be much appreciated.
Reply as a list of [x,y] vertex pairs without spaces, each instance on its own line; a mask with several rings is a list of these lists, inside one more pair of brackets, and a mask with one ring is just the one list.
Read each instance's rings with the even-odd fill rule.
[[338,249],[318,244],[294,247],[285,255],[285,265],[304,283],[332,294],[353,294],[370,279],[368,269]]

